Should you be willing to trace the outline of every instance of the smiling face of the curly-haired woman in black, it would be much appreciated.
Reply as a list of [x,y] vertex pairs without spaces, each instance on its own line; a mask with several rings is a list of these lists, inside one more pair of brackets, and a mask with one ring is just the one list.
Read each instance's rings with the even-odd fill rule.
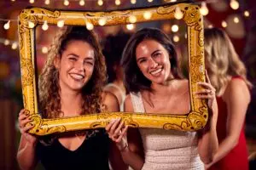
[[88,42],[68,42],[61,57],[55,59],[55,67],[59,71],[61,91],[67,89],[80,91],[90,80],[94,65],[94,48]]

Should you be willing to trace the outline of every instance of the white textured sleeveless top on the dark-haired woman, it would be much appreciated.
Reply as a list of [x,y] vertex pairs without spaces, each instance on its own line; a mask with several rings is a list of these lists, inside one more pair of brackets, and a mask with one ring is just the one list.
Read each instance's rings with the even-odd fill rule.
[[[140,93],[131,93],[134,112],[145,112]],[[145,153],[143,170],[203,170],[197,133],[157,128],[139,129]]]

